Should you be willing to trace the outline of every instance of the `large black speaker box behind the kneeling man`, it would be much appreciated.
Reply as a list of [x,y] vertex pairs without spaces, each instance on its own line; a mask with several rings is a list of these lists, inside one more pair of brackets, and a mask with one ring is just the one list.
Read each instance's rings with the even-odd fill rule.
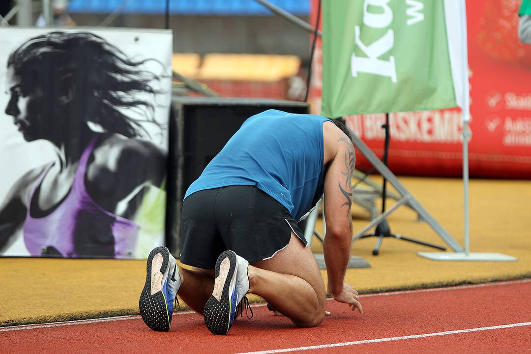
[[[305,102],[173,97],[169,124],[166,243],[179,256],[181,208],[186,189],[245,120],[268,109],[308,114]],[[281,127],[279,127],[281,128]]]

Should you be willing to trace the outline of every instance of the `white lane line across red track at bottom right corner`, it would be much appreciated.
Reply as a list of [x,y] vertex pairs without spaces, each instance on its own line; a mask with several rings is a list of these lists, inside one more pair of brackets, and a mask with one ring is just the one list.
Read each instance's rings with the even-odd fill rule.
[[390,342],[390,341],[399,341],[399,340],[415,339],[415,338],[426,338],[426,337],[434,337],[434,336],[456,334],[456,333],[468,333],[468,332],[477,332],[477,331],[499,330],[499,329],[504,329],[504,328],[521,327],[521,326],[529,326],[529,325],[531,325],[531,322],[521,322],[521,323],[503,324],[503,325],[499,325],[499,326],[469,328],[469,329],[465,329],[465,330],[456,330],[456,331],[404,335],[404,336],[400,336],[400,337],[390,337],[390,338],[366,339],[366,340],[354,341],[354,342],[322,344],[320,346],[286,348],[286,349],[271,349],[271,350],[261,350],[261,351],[249,351],[249,352],[238,353],[238,354],[287,353],[287,352],[290,352],[290,351],[302,351],[302,350],[312,350],[312,349],[326,349],[326,348],[335,348],[335,347],[347,347],[347,346],[355,346],[356,344]]

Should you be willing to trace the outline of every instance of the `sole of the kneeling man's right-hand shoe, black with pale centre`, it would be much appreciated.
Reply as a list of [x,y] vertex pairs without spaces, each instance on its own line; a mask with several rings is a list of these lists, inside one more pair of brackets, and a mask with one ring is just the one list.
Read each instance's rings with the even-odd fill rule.
[[214,291],[204,305],[204,323],[213,334],[227,334],[230,325],[230,280],[235,276],[236,254],[225,251],[216,262]]

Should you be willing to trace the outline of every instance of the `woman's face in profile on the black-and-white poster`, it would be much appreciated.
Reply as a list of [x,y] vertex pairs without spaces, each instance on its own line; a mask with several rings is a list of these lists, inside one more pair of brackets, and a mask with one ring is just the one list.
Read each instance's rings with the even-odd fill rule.
[[13,66],[7,68],[6,93],[10,95],[5,114],[13,117],[13,124],[25,141],[42,139],[45,131],[42,117],[45,113],[45,94],[39,87],[27,87]]

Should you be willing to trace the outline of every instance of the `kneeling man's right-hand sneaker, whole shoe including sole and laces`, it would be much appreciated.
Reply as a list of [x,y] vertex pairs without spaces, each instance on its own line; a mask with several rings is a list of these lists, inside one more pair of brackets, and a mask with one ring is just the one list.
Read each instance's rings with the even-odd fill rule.
[[249,291],[247,262],[234,251],[221,253],[216,262],[214,290],[204,305],[204,323],[214,334],[227,334],[236,318],[236,308]]

